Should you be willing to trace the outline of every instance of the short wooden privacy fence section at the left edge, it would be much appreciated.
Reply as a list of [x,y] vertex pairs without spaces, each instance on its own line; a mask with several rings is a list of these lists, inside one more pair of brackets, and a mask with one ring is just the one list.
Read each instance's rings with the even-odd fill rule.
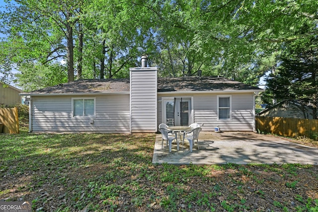
[[0,108],[0,123],[0,133],[19,133],[18,109]]

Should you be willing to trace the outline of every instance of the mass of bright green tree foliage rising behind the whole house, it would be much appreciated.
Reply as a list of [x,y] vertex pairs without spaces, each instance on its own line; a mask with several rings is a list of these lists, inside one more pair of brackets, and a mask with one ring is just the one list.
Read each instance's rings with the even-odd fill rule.
[[[257,85],[277,68],[286,46],[317,46],[308,42],[317,35],[317,7],[316,0],[6,1],[0,73],[7,79],[14,68],[31,78],[35,64],[36,83],[28,90],[62,83],[66,75],[127,77],[146,53],[161,76],[202,70]],[[61,61],[67,66],[57,75]]]

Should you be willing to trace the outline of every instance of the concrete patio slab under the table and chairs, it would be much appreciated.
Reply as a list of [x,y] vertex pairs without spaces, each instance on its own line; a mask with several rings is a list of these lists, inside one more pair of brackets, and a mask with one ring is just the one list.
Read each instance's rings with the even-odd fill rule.
[[318,148],[291,142],[282,137],[259,135],[250,132],[201,132],[199,137],[200,150],[196,142],[193,151],[185,147],[172,151],[163,142],[161,149],[161,134],[156,137],[153,163],[170,164],[284,164],[299,163],[318,165]]

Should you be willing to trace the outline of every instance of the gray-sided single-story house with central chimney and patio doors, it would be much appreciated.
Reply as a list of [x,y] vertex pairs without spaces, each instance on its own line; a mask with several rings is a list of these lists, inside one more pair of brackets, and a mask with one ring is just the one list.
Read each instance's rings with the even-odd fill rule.
[[255,95],[263,89],[224,77],[158,77],[130,68],[130,78],[80,79],[30,96],[30,132],[158,132],[160,123],[203,131],[255,131]]

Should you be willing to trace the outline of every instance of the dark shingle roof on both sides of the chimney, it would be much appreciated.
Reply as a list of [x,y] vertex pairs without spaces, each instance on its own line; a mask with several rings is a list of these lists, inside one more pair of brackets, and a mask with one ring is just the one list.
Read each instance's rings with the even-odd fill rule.
[[[122,79],[79,79],[29,92],[29,94],[54,93],[102,93],[129,92],[128,78]],[[158,92],[171,91],[218,91],[218,90],[262,90],[224,77],[186,76],[158,78]]]

